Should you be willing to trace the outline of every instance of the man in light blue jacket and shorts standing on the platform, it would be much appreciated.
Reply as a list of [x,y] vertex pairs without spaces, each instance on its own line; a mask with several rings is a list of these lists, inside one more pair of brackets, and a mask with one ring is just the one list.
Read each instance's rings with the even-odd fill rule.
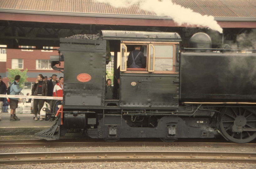
[[[19,95],[22,88],[19,87],[20,75],[14,77],[14,81],[10,86],[10,95]],[[10,98],[10,109],[11,109],[11,121],[20,120],[16,116],[16,108],[18,108],[19,98]]]

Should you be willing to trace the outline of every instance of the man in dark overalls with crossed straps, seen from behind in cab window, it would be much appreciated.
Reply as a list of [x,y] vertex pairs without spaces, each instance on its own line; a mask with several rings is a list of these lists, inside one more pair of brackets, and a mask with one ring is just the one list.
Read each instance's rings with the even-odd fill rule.
[[130,52],[127,59],[128,68],[145,68],[146,60],[144,54],[140,51],[141,46],[135,45],[132,52]]

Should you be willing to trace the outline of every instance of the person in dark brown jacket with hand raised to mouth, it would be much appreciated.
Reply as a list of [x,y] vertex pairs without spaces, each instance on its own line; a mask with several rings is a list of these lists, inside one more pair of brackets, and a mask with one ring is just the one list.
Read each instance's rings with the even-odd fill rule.
[[[32,88],[32,94],[33,96],[47,96],[47,84],[45,81],[43,81],[43,75],[39,74],[37,76],[37,80],[35,81],[33,88]],[[38,106],[39,105],[39,106]],[[35,115],[34,120],[38,120],[37,118],[37,108],[38,114],[40,115],[40,110],[44,106],[44,99],[34,99],[34,105],[33,105],[33,114]],[[39,121],[42,121],[43,118],[40,117]]]

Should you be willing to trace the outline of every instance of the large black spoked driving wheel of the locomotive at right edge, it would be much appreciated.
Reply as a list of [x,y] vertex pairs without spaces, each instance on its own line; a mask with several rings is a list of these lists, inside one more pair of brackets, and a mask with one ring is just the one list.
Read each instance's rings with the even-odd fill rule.
[[[219,129],[222,134],[235,143],[247,143],[256,138],[256,131],[234,132],[233,126],[256,129],[256,111],[253,108],[228,107],[221,111]],[[235,125],[234,125],[235,124]]]

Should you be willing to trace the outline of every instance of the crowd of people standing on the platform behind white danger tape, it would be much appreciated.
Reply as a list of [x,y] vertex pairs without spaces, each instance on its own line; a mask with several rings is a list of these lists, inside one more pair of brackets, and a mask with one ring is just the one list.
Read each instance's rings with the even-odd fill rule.
[[[63,81],[64,78],[60,77],[59,82],[57,80],[57,75],[52,74],[50,77],[51,79],[48,80],[47,76],[43,76],[42,74],[39,74],[37,76],[37,79],[32,87],[32,96],[56,96],[56,97],[62,97],[63,96]],[[20,81],[20,75],[16,75],[14,77],[14,81],[10,85],[10,94],[9,95],[19,95],[22,88],[19,86]],[[0,94],[7,94],[7,86],[2,81],[2,77],[0,76]],[[27,94],[29,95],[29,93]],[[9,98],[9,103],[7,101],[7,98],[1,97],[0,98],[0,121],[2,118],[3,112],[8,112],[8,104],[10,105],[11,109],[11,121],[20,120],[16,116],[16,108],[18,108],[18,98]],[[52,109],[55,110],[55,113],[58,110],[58,105],[61,104],[61,100],[57,100],[56,104],[53,100],[45,100],[45,99],[34,99],[33,102],[33,114],[34,114],[34,120],[42,121],[44,116],[40,115],[40,110],[44,106],[44,102],[48,102],[50,107],[53,105],[56,105],[56,107],[53,107]],[[31,103],[31,99],[27,101],[27,103]],[[38,116],[39,115],[39,116]]]

